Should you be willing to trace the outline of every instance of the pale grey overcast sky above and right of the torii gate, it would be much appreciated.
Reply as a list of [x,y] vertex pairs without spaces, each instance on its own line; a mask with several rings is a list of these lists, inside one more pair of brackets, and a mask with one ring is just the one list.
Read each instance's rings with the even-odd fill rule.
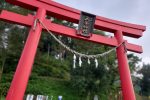
[[150,0],[54,0],[61,4],[124,22],[147,27],[142,38],[127,40],[143,46],[138,54],[143,62],[150,63]]

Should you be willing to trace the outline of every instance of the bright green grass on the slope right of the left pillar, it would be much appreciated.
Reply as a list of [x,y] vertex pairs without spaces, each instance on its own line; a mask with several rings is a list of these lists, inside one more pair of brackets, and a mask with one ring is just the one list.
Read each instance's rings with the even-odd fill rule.
[[26,94],[53,96],[53,100],[58,100],[59,95],[63,96],[63,100],[81,100],[68,81],[49,77],[31,79]]

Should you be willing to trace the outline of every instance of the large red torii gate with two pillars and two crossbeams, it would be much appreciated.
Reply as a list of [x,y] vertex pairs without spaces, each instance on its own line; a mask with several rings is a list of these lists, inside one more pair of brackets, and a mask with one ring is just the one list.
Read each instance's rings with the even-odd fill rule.
[[[114,37],[108,38],[100,35],[93,34],[92,37],[86,38],[76,35],[76,30],[58,25],[46,19],[46,15],[67,20],[73,23],[78,23],[80,18],[80,11],[58,4],[48,0],[6,0],[7,2],[18,5],[30,10],[37,11],[35,16],[20,15],[13,12],[3,10],[0,14],[0,19],[24,26],[31,27],[27,41],[25,43],[21,58],[19,60],[15,75],[13,77],[10,89],[8,91],[6,100],[22,100],[28,79],[32,70],[36,49],[41,36],[41,31],[44,29],[40,23],[37,23],[36,29],[33,30],[35,19],[42,21],[50,31],[77,39],[82,39],[90,42],[116,47],[124,42],[123,36],[133,38],[140,38],[146,27],[141,25],[129,24],[108,18],[96,16],[94,27],[107,32],[114,33]],[[13,16],[13,17],[11,17]],[[139,45],[131,44],[125,41],[128,51],[142,53],[142,47]],[[117,48],[117,59],[119,74],[121,80],[121,88],[123,93],[123,100],[136,100],[132,80],[130,76],[129,65],[127,62],[127,55],[124,46],[121,45]]]

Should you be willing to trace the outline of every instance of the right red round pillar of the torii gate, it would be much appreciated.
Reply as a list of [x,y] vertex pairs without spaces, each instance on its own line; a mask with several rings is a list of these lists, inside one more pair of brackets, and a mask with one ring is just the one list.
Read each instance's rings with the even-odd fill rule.
[[[118,44],[123,42],[123,34],[121,31],[117,31],[115,33],[115,37],[118,41]],[[118,59],[123,100],[136,100],[127,55],[123,45],[117,48],[117,59]]]

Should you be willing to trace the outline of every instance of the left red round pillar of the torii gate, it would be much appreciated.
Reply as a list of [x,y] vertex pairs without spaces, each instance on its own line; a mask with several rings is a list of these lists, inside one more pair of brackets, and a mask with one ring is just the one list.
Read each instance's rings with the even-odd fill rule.
[[[45,15],[46,10],[39,8],[35,18],[38,18],[42,21],[45,19]],[[30,29],[6,100],[23,100],[42,31],[42,27],[39,23],[37,23],[35,30],[33,30],[33,25]]]

